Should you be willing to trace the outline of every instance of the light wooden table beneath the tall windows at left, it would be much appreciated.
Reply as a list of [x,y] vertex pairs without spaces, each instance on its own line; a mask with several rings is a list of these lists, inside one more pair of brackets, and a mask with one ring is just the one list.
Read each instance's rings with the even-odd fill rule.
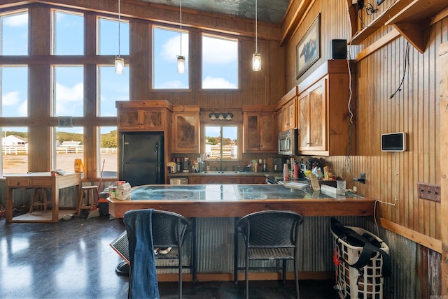
[[[59,189],[66,187],[79,187],[80,173],[66,173],[65,175],[52,176],[48,173],[23,173],[4,175],[6,177],[6,221],[7,222],[57,222],[59,221]],[[13,189],[18,188],[49,188],[51,191],[51,218],[47,219],[13,219]],[[76,190],[76,199],[79,188]],[[31,198],[32,200],[32,198]]]

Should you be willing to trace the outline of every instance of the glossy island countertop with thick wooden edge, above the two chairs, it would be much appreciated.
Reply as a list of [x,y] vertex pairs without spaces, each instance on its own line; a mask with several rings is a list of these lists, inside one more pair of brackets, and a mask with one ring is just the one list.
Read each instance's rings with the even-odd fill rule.
[[[313,196],[267,184],[147,186],[157,192],[146,196],[145,191],[137,192],[143,187],[134,187],[132,200],[108,198],[109,213],[123,218],[129,210],[154,208],[184,217],[242,217],[260,210],[290,210],[302,216],[371,216],[375,201],[362,196],[329,196],[319,192]],[[244,188],[248,191],[244,192]]]

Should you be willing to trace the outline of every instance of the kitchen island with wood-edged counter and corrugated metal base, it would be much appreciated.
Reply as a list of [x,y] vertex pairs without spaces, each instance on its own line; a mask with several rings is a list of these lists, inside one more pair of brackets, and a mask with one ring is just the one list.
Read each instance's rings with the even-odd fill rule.
[[[196,219],[195,255],[199,281],[234,279],[235,219],[260,210],[291,210],[304,216],[300,226],[299,279],[330,279],[332,264],[330,217],[358,226],[363,217],[372,216],[374,199],[346,194],[327,195],[318,191],[290,189],[269,184],[145,185],[132,188],[132,199],[108,198],[109,213],[123,218],[128,210],[154,208]],[[239,244],[243,244],[241,240]],[[240,246],[239,256],[244,256]],[[186,250],[189,263],[190,249]],[[239,258],[239,266],[244,261]],[[160,281],[176,281],[177,274],[158,270]],[[186,273],[184,279],[193,276]],[[281,273],[255,272],[250,279],[281,279]],[[288,265],[293,279],[293,265]],[[244,272],[239,273],[244,279]]]

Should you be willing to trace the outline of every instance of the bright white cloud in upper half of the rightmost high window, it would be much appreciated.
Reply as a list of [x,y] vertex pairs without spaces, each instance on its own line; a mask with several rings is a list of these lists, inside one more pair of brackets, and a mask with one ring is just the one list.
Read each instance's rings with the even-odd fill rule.
[[238,59],[238,42],[223,38],[202,38],[202,60],[206,64],[228,64]]

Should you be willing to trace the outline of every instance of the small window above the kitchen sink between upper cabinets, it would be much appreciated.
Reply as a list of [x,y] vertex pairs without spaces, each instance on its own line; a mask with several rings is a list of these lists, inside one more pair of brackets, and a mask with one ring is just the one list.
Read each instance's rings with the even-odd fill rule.
[[206,159],[238,159],[238,126],[204,126]]

